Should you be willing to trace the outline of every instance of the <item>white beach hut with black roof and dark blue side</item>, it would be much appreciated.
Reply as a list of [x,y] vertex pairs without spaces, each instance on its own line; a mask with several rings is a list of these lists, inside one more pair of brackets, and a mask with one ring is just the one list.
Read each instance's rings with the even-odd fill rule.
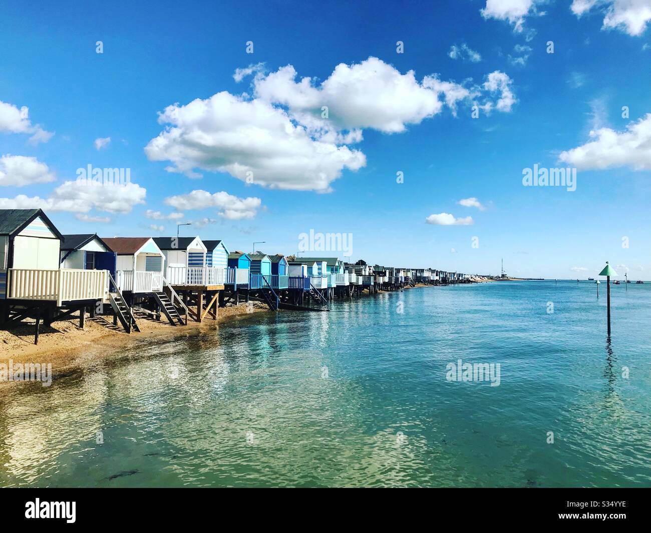
[[96,233],[64,235],[61,241],[61,268],[108,270],[115,277],[116,257]]

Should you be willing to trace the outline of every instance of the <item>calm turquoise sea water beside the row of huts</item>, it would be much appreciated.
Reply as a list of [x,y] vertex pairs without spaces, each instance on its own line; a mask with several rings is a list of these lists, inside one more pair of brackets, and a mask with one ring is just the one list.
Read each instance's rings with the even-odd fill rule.
[[[605,285],[552,281],[142,344],[0,397],[0,485],[648,487],[651,284],[612,291],[611,342]],[[458,359],[499,386],[447,381]]]

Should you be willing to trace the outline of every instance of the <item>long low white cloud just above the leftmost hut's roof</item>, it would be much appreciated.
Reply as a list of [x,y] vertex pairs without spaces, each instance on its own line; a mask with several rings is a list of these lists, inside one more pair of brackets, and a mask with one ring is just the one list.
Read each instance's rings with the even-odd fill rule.
[[126,185],[98,185],[89,182],[64,182],[54,189],[49,198],[18,195],[0,198],[0,209],[37,209],[88,213],[90,210],[107,213],[129,213],[136,204],[145,203],[146,189],[134,183]]

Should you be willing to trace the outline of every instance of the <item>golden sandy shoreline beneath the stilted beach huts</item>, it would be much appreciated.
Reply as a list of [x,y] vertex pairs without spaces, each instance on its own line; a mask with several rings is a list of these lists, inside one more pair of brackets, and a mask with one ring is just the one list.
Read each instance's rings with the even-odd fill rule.
[[[406,286],[402,290],[423,287],[435,287],[435,285],[417,283],[414,287]],[[251,303],[253,303],[253,312],[247,312],[247,306],[243,304],[230,305],[219,308],[217,320],[196,322],[189,319],[187,325],[177,327],[167,322],[164,316],[156,321],[145,314],[135,313],[141,332],[131,335],[119,326],[113,326],[110,315],[96,316],[93,319],[87,317],[84,329],[79,328],[79,317],[76,316],[53,322],[48,328],[43,327],[38,345],[33,344],[34,321],[27,320],[11,329],[0,329],[0,364],[6,364],[7,368],[10,360],[14,366],[20,363],[51,364],[51,377],[62,376],[90,368],[96,362],[117,357],[124,349],[132,348],[150,339],[200,335],[202,331],[219,327],[230,320],[272,312],[264,303],[256,301]],[[31,382],[0,381],[0,394],[14,390],[14,387],[25,383]]]

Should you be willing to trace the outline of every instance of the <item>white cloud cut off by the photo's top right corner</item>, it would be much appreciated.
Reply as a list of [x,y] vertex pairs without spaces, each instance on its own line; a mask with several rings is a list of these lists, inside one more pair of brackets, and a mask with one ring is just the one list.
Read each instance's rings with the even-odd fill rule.
[[602,29],[618,29],[631,36],[639,36],[651,20],[650,0],[574,0],[572,12],[580,17],[598,8],[603,13]]

